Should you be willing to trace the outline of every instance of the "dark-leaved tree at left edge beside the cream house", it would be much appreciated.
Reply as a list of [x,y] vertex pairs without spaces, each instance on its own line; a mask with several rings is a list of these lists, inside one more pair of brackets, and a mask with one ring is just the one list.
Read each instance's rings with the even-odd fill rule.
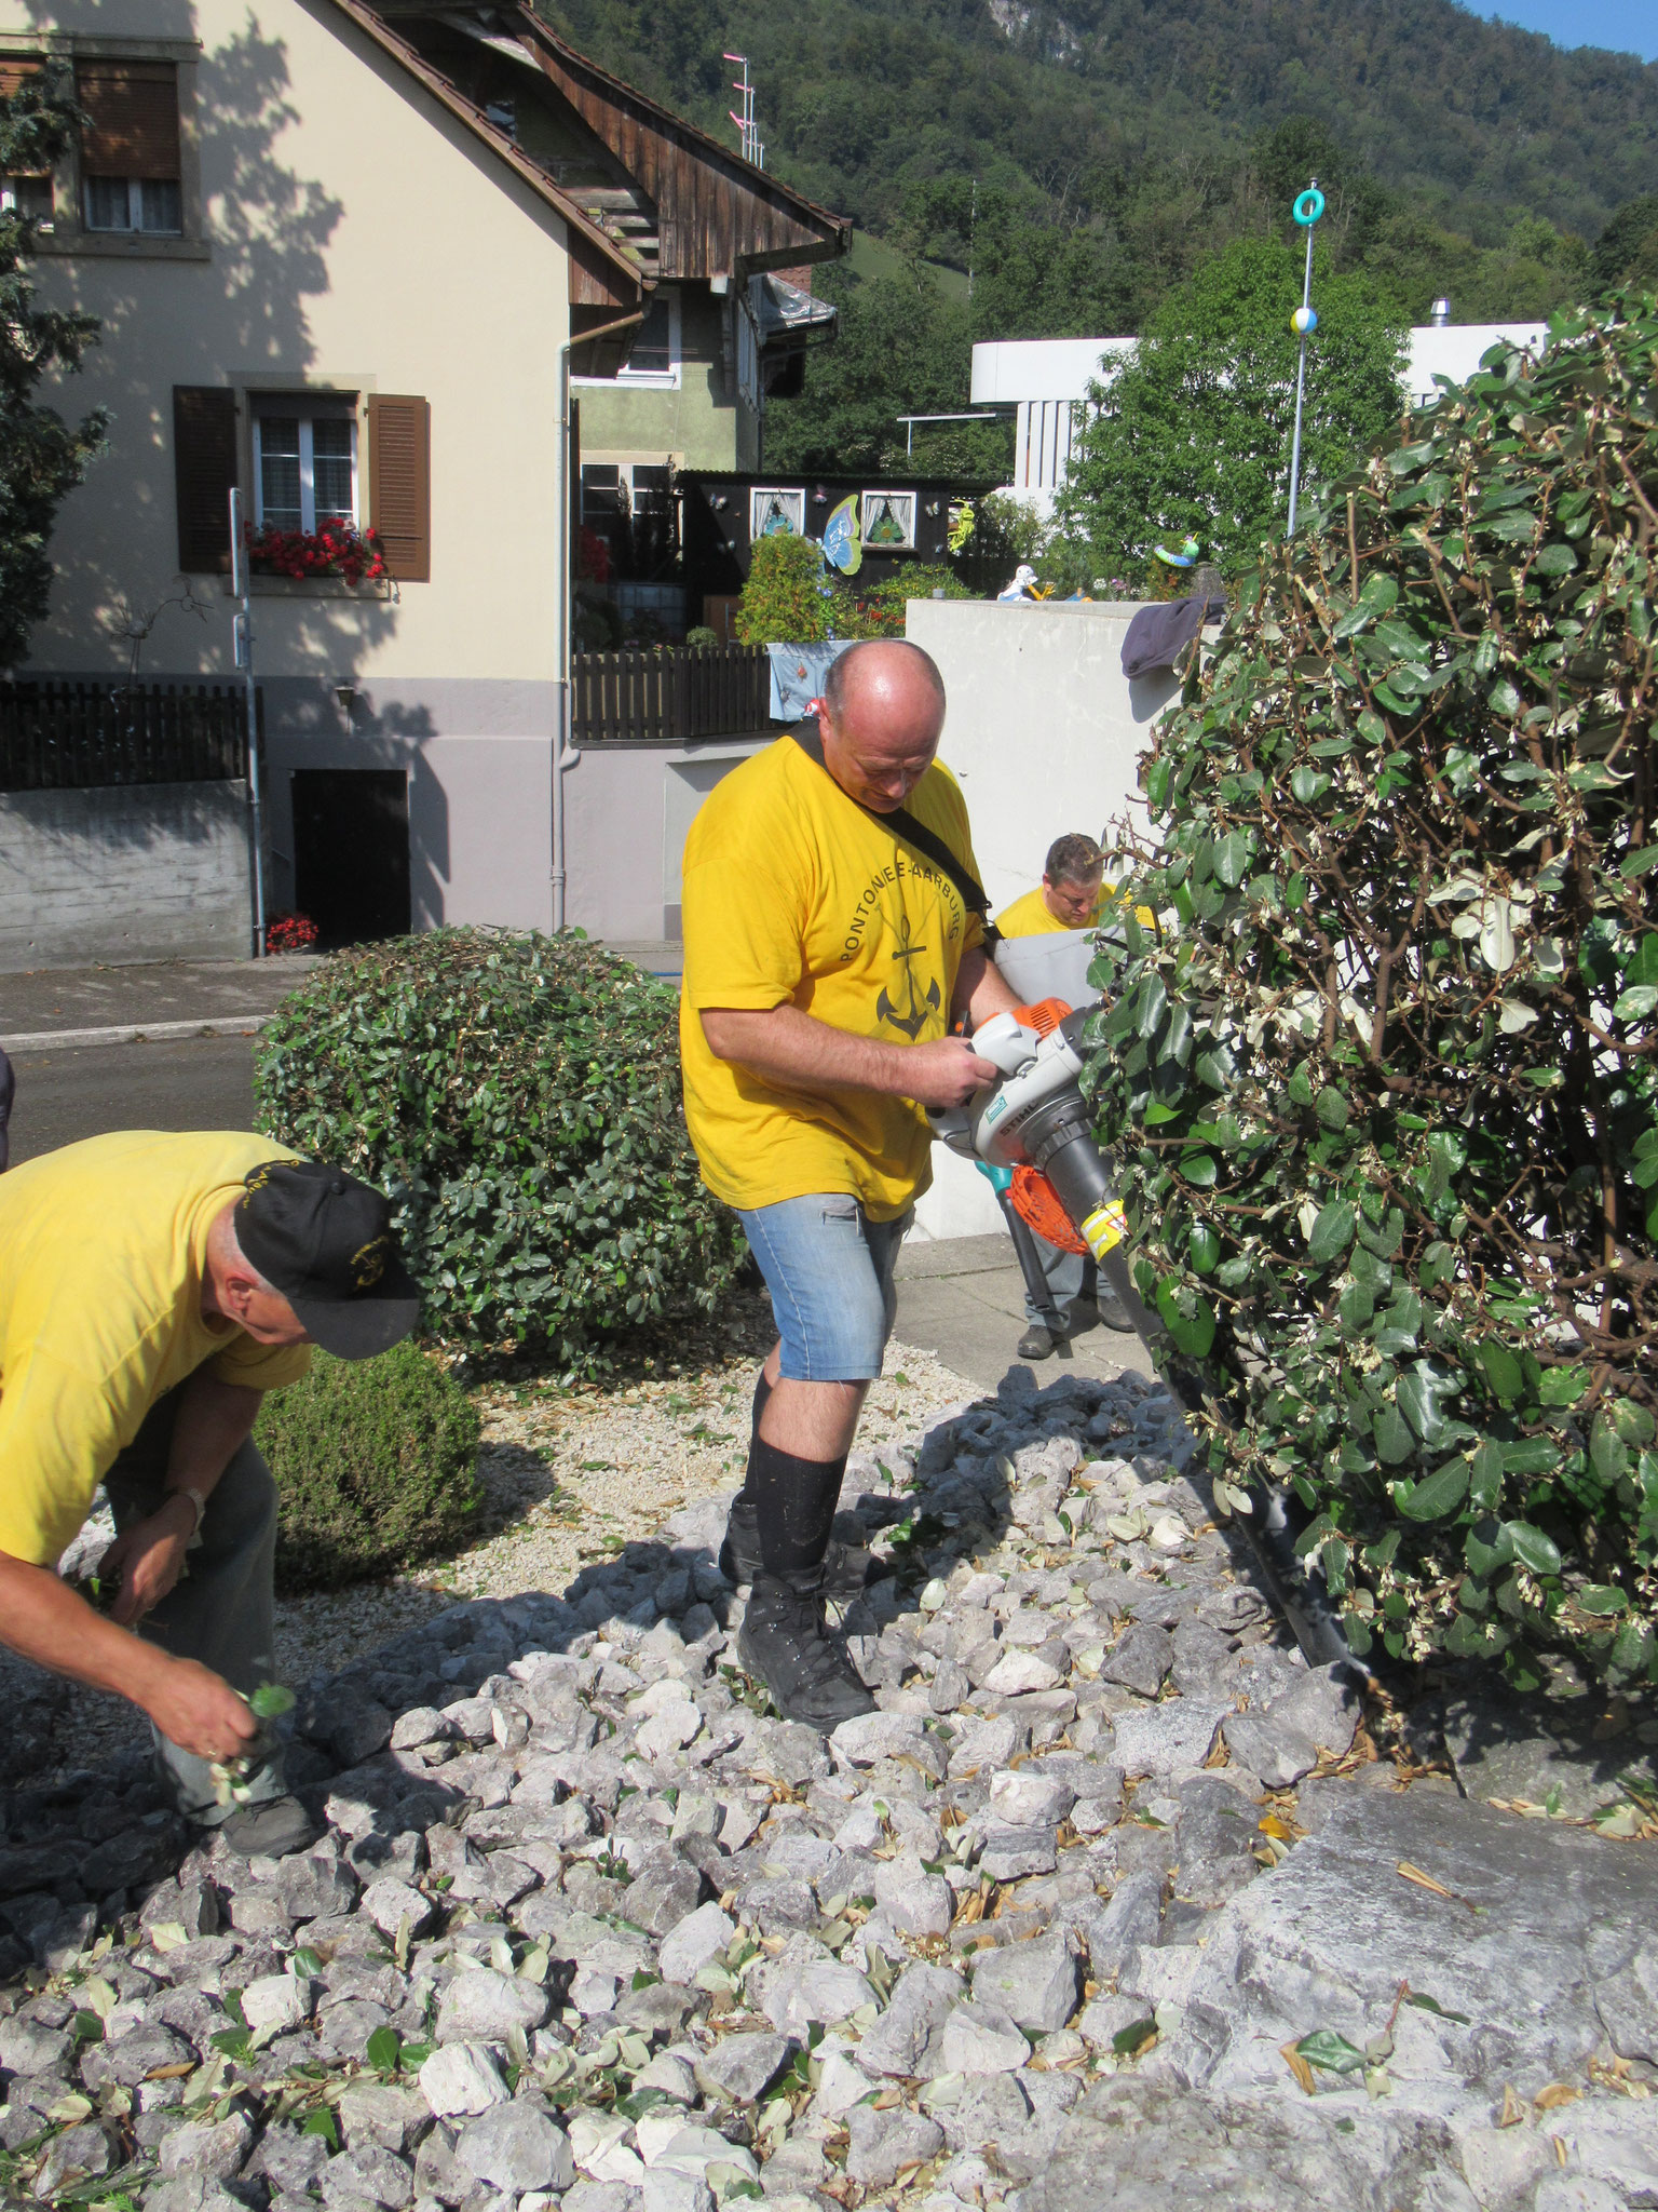
[[[51,170],[77,119],[62,73],[27,77],[11,100],[0,97],[0,175]],[[71,429],[55,407],[35,403],[44,376],[80,367],[97,343],[97,321],[35,305],[27,274],[33,248],[29,215],[0,215],[0,668],[24,657],[29,633],[46,613],[51,529],[106,425],[102,407]]]

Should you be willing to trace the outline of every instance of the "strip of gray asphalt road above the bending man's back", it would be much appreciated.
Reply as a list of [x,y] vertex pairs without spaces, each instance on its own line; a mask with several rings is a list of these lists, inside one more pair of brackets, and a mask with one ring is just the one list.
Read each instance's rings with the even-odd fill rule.
[[254,1040],[82,1044],[13,1053],[11,1164],[113,1128],[252,1128]]

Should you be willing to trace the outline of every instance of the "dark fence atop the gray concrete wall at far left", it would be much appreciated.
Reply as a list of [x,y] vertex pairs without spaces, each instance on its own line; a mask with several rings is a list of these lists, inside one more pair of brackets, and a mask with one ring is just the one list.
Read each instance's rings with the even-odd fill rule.
[[0,792],[228,783],[248,774],[230,684],[0,684]]

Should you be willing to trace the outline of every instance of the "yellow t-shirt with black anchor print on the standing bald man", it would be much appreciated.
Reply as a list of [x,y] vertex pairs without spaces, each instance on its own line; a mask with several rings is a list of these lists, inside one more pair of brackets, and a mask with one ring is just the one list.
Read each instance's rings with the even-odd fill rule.
[[[909,812],[977,878],[948,768],[928,768]],[[745,1210],[847,1192],[873,1221],[895,1221],[933,1179],[926,1113],[873,1091],[776,1088],[716,1060],[701,1013],[791,1004],[856,1037],[931,1044],[946,1035],[962,953],[984,936],[977,914],[783,737],[732,770],[692,823],[683,922],[685,1121],[707,1188]]]

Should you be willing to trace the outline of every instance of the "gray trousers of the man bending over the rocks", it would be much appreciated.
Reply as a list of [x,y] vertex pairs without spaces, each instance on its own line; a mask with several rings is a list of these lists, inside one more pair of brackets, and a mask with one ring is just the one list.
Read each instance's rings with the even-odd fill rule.
[[[157,1416],[166,1411],[166,1422]],[[155,1409],[135,1444],[104,1478],[115,1511],[115,1528],[126,1531],[161,1504],[166,1444],[172,1440],[168,1400]],[[186,1573],[141,1624],[141,1635],[175,1659],[199,1659],[223,1674],[232,1690],[252,1694],[276,1679],[272,1564],[276,1557],[276,1484],[252,1438],[234,1453],[214,1482],[201,1515],[201,1542],[186,1559]],[[261,1734],[259,1765],[248,1778],[248,1803],[283,1796],[281,1745]],[[212,1765],[155,1730],[157,1772],[172,1807],[208,1827],[237,1807],[219,1805]]]

